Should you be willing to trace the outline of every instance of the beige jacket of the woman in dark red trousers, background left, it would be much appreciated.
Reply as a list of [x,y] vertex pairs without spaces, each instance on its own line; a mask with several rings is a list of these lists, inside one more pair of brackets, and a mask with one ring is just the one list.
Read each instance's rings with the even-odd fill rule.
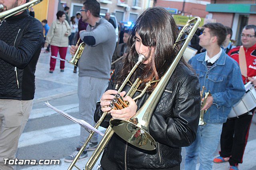
[[68,36],[70,36],[71,28],[68,22],[64,20],[63,23],[60,23],[60,20],[57,19],[52,23],[45,42],[57,47],[68,47],[68,36],[65,36],[65,32],[68,32]]

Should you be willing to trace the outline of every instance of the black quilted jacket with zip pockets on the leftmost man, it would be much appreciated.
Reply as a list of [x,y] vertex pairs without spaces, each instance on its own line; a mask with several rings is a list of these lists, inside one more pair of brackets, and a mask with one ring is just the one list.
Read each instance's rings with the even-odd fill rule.
[[0,23],[0,99],[34,98],[43,40],[42,23],[27,10]]

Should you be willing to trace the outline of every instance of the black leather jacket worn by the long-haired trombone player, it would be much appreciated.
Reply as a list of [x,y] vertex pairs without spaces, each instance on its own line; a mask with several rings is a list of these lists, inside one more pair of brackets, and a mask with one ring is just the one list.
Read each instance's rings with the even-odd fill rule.
[[[120,65],[115,74],[120,71]],[[108,89],[115,89],[111,80]],[[120,85],[119,85],[120,87]],[[107,89],[107,90],[108,90]],[[127,89],[125,89],[127,90]],[[137,101],[142,107],[148,95]],[[97,103],[94,120],[102,112]],[[181,147],[189,146],[196,138],[200,115],[200,85],[196,75],[183,63],[176,67],[150,121],[150,134],[157,142],[152,151],[136,148],[114,134],[106,146],[101,164],[104,170],[171,169],[180,166]],[[102,127],[108,127],[107,115]]]

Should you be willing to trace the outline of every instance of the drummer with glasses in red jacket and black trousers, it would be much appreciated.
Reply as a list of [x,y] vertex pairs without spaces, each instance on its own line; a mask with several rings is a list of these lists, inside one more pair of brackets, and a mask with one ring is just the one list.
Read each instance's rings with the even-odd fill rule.
[[[256,26],[245,26],[241,34],[241,40],[242,46],[231,49],[228,55],[239,63],[244,84],[251,81],[256,87],[256,79],[254,79],[256,76]],[[244,62],[242,58],[244,58]],[[254,109],[250,113],[240,115],[238,118],[230,118],[223,124],[220,138],[220,156],[215,158],[213,162],[229,161],[230,170],[238,170],[238,164],[242,163]]]

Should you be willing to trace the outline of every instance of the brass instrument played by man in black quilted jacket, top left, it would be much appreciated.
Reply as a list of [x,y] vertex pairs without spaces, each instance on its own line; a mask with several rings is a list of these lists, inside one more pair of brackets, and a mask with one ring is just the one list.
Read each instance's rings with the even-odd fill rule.
[[[5,20],[6,18],[9,18],[15,14],[18,14],[19,12],[22,12],[24,10],[27,10],[28,8],[36,5],[36,4],[39,4],[40,2],[42,2],[43,0],[32,0],[28,3],[25,3],[21,6],[17,6],[15,8],[12,8],[10,10],[7,10],[7,11],[4,11],[4,12],[1,12],[0,13],[0,23]],[[0,9],[3,9],[4,6],[2,4],[0,4]]]

